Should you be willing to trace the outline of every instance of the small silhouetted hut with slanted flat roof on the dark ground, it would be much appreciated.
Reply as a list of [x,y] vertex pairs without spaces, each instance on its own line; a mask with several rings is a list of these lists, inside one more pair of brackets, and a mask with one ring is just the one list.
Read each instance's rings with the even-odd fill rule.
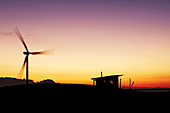
[[110,75],[110,76],[102,76],[97,78],[91,78],[93,80],[93,85],[96,84],[96,87],[99,88],[121,88],[121,79],[119,86],[119,77],[123,75]]

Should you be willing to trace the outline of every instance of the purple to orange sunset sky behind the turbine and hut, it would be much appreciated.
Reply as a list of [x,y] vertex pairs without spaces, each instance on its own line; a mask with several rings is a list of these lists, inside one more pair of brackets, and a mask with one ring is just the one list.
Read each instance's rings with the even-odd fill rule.
[[[54,49],[30,56],[30,79],[92,84],[124,74],[138,87],[170,87],[169,0],[0,0],[0,76],[17,77],[24,46]],[[25,77],[25,74],[24,76]]]

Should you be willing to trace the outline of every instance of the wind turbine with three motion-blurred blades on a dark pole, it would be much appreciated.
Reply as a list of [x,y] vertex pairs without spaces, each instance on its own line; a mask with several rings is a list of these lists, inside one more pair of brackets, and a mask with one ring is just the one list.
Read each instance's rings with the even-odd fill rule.
[[26,51],[23,52],[24,55],[26,55],[25,59],[24,59],[24,63],[22,65],[22,68],[18,74],[19,77],[22,77],[22,74],[24,72],[24,68],[26,65],[26,84],[28,84],[28,80],[29,80],[29,55],[40,55],[40,54],[49,54],[50,50],[46,50],[46,51],[39,51],[39,52],[29,52],[28,47],[19,31],[19,29],[16,27],[14,28],[14,32],[16,33],[16,35],[18,36],[18,38],[21,40],[22,44],[24,45]]

